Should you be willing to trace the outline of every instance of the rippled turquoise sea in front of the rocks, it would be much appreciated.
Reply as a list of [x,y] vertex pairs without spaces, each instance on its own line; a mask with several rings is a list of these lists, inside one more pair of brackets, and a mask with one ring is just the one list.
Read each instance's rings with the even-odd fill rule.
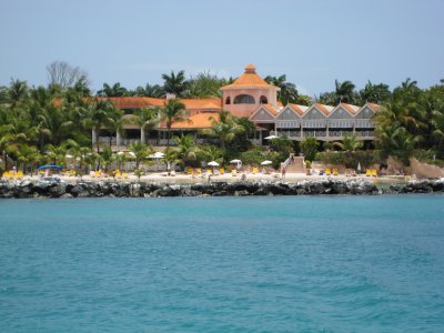
[[0,332],[444,332],[444,195],[1,200]]

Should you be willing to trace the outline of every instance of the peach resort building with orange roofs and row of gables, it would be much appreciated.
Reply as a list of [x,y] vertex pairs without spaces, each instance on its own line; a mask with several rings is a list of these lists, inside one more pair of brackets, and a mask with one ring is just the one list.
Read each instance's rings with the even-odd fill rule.
[[[278,87],[261,78],[253,64],[249,64],[244,73],[233,83],[221,88],[222,98],[181,99],[186,108],[189,121],[173,123],[171,130],[176,134],[192,133],[198,142],[202,143],[211,139],[201,137],[200,130],[210,128],[212,120],[218,119],[218,112],[226,110],[235,117],[248,117],[256,124],[256,134],[251,138],[255,144],[266,144],[268,141],[264,138],[269,135],[286,137],[297,141],[307,137],[321,141],[339,141],[344,135],[355,133],[360,140],[374,139],[375,123],[372,118],[380,105],[373,103],[366,103],[363,107],[346,103],[282,105],[278,101],[279,90]],[[167,95],[164,99],[143,97],[102,99],[113,102],[129,118],[137,109],[163,107],[171,98],[174,95]],[[138,141],[152,145],[164,145],[167,142],[164,124],[159,124],[151,133],[144,133],[145,138],[141,137],[141,130],[137,124],[125,124],[124,129],[125,138],[121,138],[119,133],[109,133],[103,129],[99,138],[93,138],[93,141],[111,142],[115,148]]]

